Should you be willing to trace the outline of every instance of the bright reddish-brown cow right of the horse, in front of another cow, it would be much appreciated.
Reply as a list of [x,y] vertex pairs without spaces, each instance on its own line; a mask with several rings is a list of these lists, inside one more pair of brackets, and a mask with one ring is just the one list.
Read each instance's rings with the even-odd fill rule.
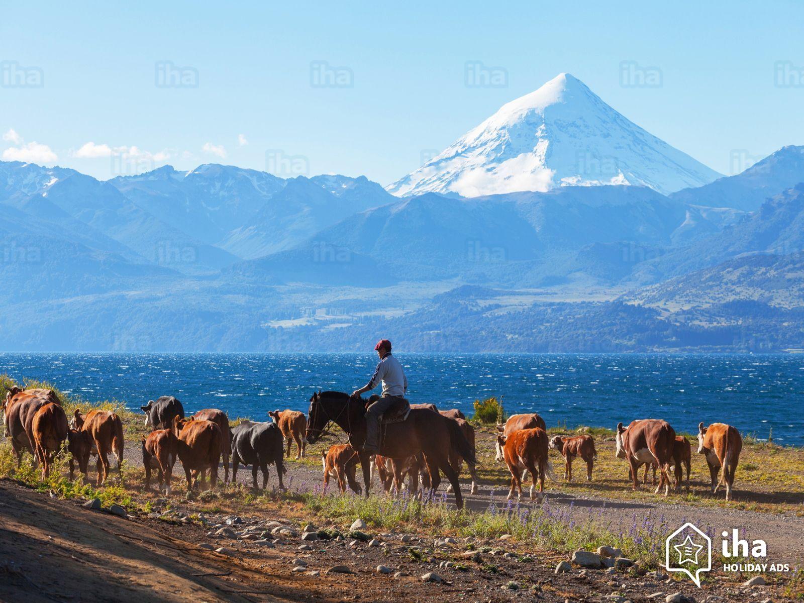
[[[548,458],[548,434],[544,429],[517,429],[510,435],[498,435],[497,443],[503,449],[503,458],[511,471],[511,491],[508,500],[514,498],[514,490],[519,490],[522,498],[522,474],[524,470],[531,472],[531,500],[541,503],[544,497],[544,476],[549,475],[555,481],[552,465]],[[539,495],[534,497],[533,490],[536,479],[539,479]]]

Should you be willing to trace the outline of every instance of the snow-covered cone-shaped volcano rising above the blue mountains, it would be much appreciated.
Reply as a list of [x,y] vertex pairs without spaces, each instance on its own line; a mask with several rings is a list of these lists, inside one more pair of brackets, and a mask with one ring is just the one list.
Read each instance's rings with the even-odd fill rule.
[[561,73],[503,105],[388,191],[476,197],[632,184],[667,194],[716,178],[716,171],[627,120],[576,77]]

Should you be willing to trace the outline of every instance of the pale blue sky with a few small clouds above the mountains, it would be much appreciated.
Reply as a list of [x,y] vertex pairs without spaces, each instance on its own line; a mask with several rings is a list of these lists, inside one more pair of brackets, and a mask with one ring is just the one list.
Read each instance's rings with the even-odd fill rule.
[[729,174],[804,144],[802,40],[792,1],[6,3],[0,154],[98,178],[221,162],[388,184],[570,72]]

